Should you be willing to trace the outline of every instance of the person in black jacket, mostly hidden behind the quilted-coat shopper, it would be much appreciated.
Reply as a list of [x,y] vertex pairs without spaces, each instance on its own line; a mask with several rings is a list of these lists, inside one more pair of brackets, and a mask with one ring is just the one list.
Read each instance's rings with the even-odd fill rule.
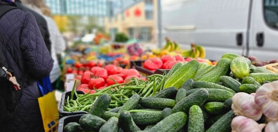
[[44,42],[46,44],[48,51],[50,52],[51,51],[51,41],[50,41],[50,36],[49,36],[49,32],[48,32],[49,30],[47,27],[47,22],[44,19],[44,17],[42,15],[38,14],[36,11],[24,6],[20,0],[15,0],[15,4],[17,5],[18,8],[23,9],[25,11],[29,11],[30,13],[32,13],[35,16],[35,19],[36,19],[37,24],[40,29],[40,33],[44,38]]

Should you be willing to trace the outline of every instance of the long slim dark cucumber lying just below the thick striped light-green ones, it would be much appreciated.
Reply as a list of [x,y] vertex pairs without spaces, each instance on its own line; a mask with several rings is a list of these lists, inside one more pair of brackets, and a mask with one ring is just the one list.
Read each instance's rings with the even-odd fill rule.
[[209,88],[209,89],[220,89],[220,90],[227,90],[229,92],[235,93],[234,90],[227,88],[225,86],[221,86],[211,82],[204,82],[204,81],[196,81],[192,83],[193,88]]

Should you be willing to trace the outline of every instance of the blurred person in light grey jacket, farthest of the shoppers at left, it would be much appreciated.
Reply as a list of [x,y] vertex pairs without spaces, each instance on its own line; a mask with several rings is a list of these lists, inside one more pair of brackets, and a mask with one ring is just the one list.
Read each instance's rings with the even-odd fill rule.
[[[44,4],[44,0],[36,0],[37,2],[42,2]],[[40,3],[38,5],[40,6]],[[59,61],[57,59],[57,55],[61,54],[66,49],[66,42],[60,33],[57,24],[51,18],[51,10],[46,5],[39,7],[42,13],[44,14],[44,18],[47,21],[47,26],[50,33],[51,40],[51,56],[54,60],[54,67],[50,72],[50,81],[52,83],[52,87],[56,88],[57,79],[61,76],[61,70],[59,66]]]

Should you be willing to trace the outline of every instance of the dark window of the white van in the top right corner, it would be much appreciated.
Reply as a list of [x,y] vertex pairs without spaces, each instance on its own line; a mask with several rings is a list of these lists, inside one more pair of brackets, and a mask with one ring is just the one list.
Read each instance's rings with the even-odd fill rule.
[[268,26],[278,29],[278,0],[264,0],[264,18]]

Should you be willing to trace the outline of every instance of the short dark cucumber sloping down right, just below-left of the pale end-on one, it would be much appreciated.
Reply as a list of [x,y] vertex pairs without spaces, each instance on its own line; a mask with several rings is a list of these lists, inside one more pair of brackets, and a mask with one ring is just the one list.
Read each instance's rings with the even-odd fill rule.
[[229,76],[221,76],[219,77],[219,80],[224,84],[225,87],[230,88],[234,90],[234,92],[239,92],[239,86],[241,85],[240,82],[237,80],[229,77]]

